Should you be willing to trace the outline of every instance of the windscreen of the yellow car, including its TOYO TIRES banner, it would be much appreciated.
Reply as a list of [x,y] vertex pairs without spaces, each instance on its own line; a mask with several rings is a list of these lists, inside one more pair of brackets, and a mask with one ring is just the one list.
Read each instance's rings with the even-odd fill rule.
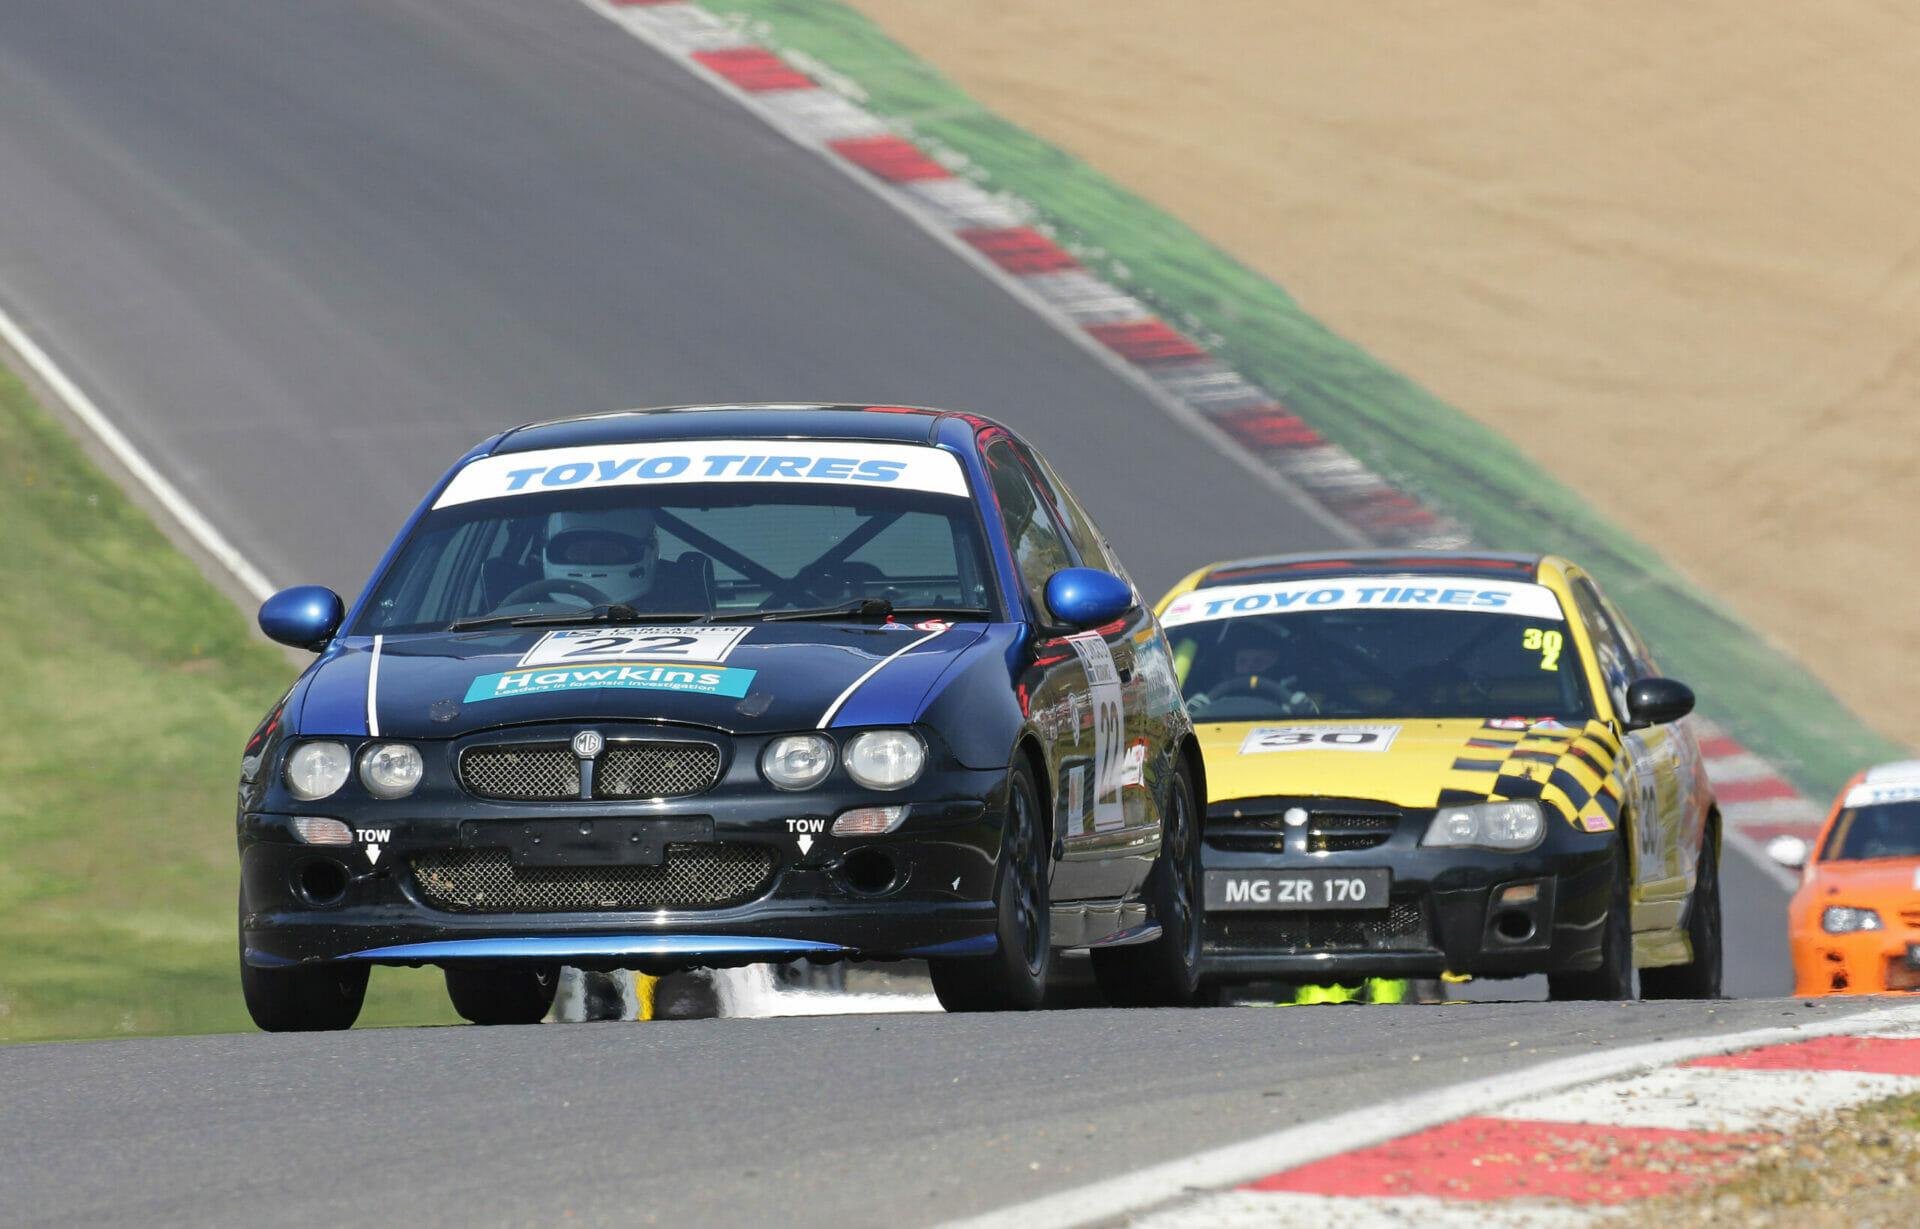
[[1194,720],[1592,714],[1567,620],[1540,586],[1196,590],[1164,624]]

